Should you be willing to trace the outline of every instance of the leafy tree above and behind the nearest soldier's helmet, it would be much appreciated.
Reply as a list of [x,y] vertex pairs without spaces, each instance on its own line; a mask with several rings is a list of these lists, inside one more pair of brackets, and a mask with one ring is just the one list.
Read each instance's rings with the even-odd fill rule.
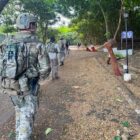
[[58,0],[15,0],[10,1],[2,14],[4,24],[11,25],[15,22],[17,15],[20,12],[33,13],[38,17],[38,33],[40,38],[45,43],[47,39],[48,26],[55,23],[57,20],[56,12],[62,5],[58,4]]

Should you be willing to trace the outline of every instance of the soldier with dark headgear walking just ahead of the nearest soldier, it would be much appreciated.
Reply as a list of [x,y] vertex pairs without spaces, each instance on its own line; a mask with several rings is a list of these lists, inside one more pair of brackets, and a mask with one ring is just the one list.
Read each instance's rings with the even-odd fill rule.
[[58,44],[55,43],[55,37],[51,37],[47,44],[47,52],[51,62],[51,76],[52,80],[58,79],[58,53],[60,52]]

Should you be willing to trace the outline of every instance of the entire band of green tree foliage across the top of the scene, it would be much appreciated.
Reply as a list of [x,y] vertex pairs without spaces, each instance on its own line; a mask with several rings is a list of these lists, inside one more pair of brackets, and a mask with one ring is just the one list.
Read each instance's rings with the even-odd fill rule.
[[[3,12],[4,21],[7,25],[15,22],[17,16],[15,2],[10,1],[9,6]],[[102,43],[113,37],[122,5],[121,0],[20,0],[21,7],[22,4],[24,7],[21,8],[22,11],[33,13],[38,17],[38,33],[44,42],[51,35],[48,25],[57,21],[56,12],[60,12],[72,17],[73,21],[72,30],[67,27],[61,27],[57,30],[58,38],[60,36],[69,38],[72,34],[74,36],[77,34],[74,40],[82,41],[85,44]],[[138,10],[134,11],[134,7],[139,6],[139,0],[123,0],[123,6],[129,12],[129,30],[133,30],[134,35],[139,37],[140,13]],[[74,11],[73,14],[70,12],[71,10]],[[124,30],[123,18],[118,38],[120,38],[121,30]],[[8,31],[11,32],[10,29],[5,30],[5,32]]]

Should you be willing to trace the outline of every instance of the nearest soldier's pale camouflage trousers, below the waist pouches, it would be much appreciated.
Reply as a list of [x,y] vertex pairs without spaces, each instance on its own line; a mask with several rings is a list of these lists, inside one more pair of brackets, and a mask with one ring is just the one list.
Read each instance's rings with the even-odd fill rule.
[[15,106],[16,140],[31,140],[37,97],[27,95],[24,98],[14,98],[17,98],[17,102],[19,102]]

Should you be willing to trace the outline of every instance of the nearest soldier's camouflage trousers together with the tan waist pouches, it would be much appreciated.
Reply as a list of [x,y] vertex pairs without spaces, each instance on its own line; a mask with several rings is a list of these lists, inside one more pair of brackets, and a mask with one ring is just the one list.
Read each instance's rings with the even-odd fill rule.
[[9,94],[15,106],[16,140],[31,140],[38,105],[38,78],[22,76],[18,81],[6,78],[2,81],[2,89]]

